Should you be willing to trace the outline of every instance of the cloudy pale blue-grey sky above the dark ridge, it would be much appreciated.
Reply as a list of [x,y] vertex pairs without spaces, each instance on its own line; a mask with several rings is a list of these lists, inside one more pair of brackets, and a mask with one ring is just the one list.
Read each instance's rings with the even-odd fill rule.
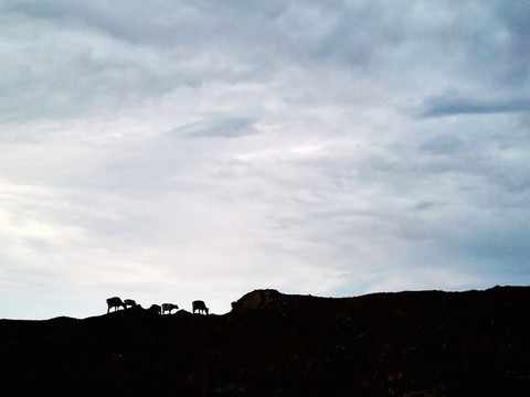
[[0,318],[530,285],[529,20],[0,0]]

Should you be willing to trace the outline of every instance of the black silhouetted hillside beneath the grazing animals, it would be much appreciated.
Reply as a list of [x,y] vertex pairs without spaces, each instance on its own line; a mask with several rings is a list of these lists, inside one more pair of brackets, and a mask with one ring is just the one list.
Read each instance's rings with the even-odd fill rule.
[[[530,396],[530,287],[0,320],[11,395]],[[46,393],[46,394],[44,394]]]

